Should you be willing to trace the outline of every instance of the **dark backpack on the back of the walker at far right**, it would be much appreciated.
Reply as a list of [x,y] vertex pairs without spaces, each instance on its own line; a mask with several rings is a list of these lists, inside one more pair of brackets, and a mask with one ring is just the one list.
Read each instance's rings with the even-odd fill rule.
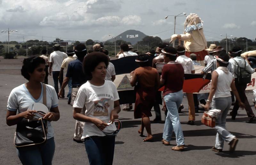
[[[233,60],[234,60],[234,59],[233,59]],[[234,61],[236,62],[236,60],[234,60]],[[237,75],[237,79],[238,79],[237,82],[238,82],[238,84],[248,84],[248,83],[251,83],[252,74],[250,74],[250,73],[247,71],[247,69],[246,69],[246,61],[244,60],[244,67],[240,67],[237,62],[236,62],[236,64],[237,64],[237,66],[239,67],[239,68],[238,68],[238,75],[235,73],[235,71],[234,71],[234,73]],[[241,71],[241,69],[244,70],[244,71],[247,72],[247,73],[246,73],[246,74],[243,74],[242,71]]]

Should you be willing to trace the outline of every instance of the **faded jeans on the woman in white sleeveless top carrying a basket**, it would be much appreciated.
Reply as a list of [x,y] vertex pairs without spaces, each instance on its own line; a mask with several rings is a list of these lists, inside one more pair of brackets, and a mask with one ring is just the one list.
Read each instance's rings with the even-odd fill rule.
[[226,130],[226,117],[231,106],[231,96],[225,98],[212,98],[212,109],[219,109],[221,113],[216,119],[215,130],[217,131],[215,148],[223,149],[224,140],[231,142],[234,135]]

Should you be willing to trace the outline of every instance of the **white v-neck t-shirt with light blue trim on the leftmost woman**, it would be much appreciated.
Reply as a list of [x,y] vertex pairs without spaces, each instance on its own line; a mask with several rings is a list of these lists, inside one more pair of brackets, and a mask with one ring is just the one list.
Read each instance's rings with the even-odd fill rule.
[[[42,83],[41,83],[42,84]],[[46,105],[50,112],[52,107],[57,107],[59,100],[56,94],[55,89],[51,85],[46,86]],[[42,103],[43,104],[43,84],[40,97],[36,100],[32,97],[25,84],[22,84],[14,88],[8,98],[7,109],[9,111],[17,111],[18,113],[27,111],[28,107],[33,103]],[[51,122],[47,121],[48,132],[47,139],[50,139],[54,136],[54,131],[51,125]]]

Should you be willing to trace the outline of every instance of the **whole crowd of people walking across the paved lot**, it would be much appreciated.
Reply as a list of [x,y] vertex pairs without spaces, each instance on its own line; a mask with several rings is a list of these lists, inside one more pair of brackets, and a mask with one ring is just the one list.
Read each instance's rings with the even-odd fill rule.
[[[178,36],[179,38],[179,36]],[[198,112],[199,102],[208,111],[221,111],[216,119],[216,142],[212,147],[215,152],[222,152],[224,141],[234,151],[238,139],[226,130],[226,117],[229,108],[234,104],[230,115],[236,119],[239,107],[245,108],[248,122],[255,121],[255,115],[245,95],[248,77],[256,71],[247,58],[241,57],[241,48],[234,47],[227,54],[222,47],[211,44],[208,55],[204,58],[205,67],[202,77],[211,71],[212,86],[209,94],[183,93],[184,74],[195,74],[195,65],[202,65],[196,60],[196,54],[185,55],[185,48],[176,48],[167,43],[161,43],[156,51],[139,54],[132,51],[132,45],[121,44],[118,58],[137,56],[139,65],[131,72],[130,84],[136,91],[134,118],[141,118],[138,130],[143,136],[144,128],[147,137],[144,142],[151,141],[151,109],[154,107],[156,118],[161,121],[161,110],[156,98],[164,99],[165,123],[162,143],[170,145],[172,132],[176,136],[177,145],[172,150],[182,151],[185,147],[183,131],[179,119],[179,110],[183,108],[182,100],[188,99],[188,124],[194,125],[195,113]],[[152,59],[149,63],[149,59]],[[49,75],[52,75],[54,87],[48,85]],[[65,74],[64,74],[65,73]],[[76,120],[73,140],[85,144],[89,163],[92,165],[112,164],[115,150],[115,136],[106,136],[105,132],[116,130],[113,121],[118,119],[121,108],[115,84],[115,67],[108,56],[108,50],[103,45],[95,44],[93,50],[86,49],[84,44],[78,44],[67,54],[60,51],[60,45],[54,45],[54,51],[47,57],[42,51],[39,57],[24,59],[21,75],[28,80],[11,91],[7,103],[7,125],[16,125],[21,119],[33,119],[35,110],[27,110],[33,103],[43,103],[43,83],[46,85],[47,113],[43,119],[49,121],[47,142],[40,145],[17,147],[17,153],[22,164],[51,164],[55,151],[52,121],[58,121],[60,112],[58,99],[65,97],[65,87],[68,85],[68,104],[73,105],[73,118]],[[64,77],[65,75],[65,77]],[[251,78],[251,77],[250,77]],[[250,79],[251,81],[251,79]],[[60,90],[59,90],[60,83]],[[163,92],[158,91],[164,86]],[[232,92],[230,92],[230,88]],[[236,97],[236,101],[234,99]],[[132,108],[132,104],[123,105],[124,110]],[[17,113],[18,110],[18,113]]]

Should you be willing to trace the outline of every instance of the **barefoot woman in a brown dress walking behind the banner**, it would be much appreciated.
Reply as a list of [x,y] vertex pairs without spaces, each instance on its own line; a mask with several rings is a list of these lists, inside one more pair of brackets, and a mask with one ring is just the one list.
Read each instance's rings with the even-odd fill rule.
[[139,55],[136,62],[140,67],[131,72],[130,83],[132,86],[136,85],[134,118],[142,118],[141,127],[138,132],[143,136],[144,127],[146,127],[148,132],[147,138],[143,139],[145,142],[153,138],[149,117],[152,116],[150,111],[156,101],[156,91],[160,87],[160,77],[156,68],[149,67],[147,54]]

